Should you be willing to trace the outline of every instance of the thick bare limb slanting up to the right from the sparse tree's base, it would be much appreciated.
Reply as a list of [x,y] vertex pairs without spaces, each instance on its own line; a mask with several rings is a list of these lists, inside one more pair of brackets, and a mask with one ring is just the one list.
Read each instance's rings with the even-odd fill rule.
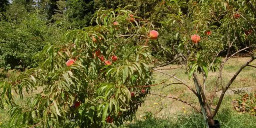
[[234,76],[230,79],[230,81],[227,83],[226,87],[224,88],[224,90],[222,91],[218,104],[216,106],[216,109],[214,110],[214,113],[212,114],[212,118],[217,114],[219,108],[220,108],[220,104],[222,103],[222,100],[224,98],[224,95],[226,93],[226,91],[228,90],[228,88],[230,87],[230,85],[234,82],[234,80],[236,79],[236,77],[239,75],[239,73],[246,67],[248,66],[252,61],[254,61],[256,59],[256,56],[252,57],[250,60],[248,60],[244,65],[242,65],[240,67],[240,69],[238,69],[238,71],[236,71],[236,73],[234,74]]

